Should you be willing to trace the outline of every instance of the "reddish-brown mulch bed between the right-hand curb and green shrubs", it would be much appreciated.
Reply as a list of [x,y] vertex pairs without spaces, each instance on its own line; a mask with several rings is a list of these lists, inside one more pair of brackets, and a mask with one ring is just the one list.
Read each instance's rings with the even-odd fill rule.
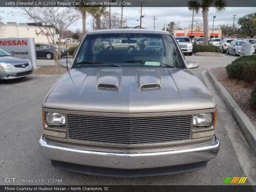
[[235,80],[228,78],[225,67],[212,68],[212,74],[226,88],[229,94],[242,108],[244,113],[249,117],[256,127],[256,109],[252,108],[250,99],[252,95],[252,84],[246,83],[243,80]]

